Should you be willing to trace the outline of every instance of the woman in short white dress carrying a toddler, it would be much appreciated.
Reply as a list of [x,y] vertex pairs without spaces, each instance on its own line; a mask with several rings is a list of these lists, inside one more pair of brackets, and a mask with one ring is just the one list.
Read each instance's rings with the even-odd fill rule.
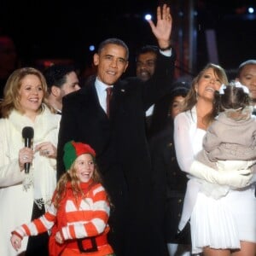
[[[236,172],[218,172],[195,160],[202,149],[203,137],[215,117],[213,99],[215,90],[221,84],[227,84],[224,69],[216,64],[208,63],[193,79],[191,89],[186,96],[183,112],[174,119],[174,143],[177,162],[183,172],[190,178],[187,184],[183,203],[183,213],[178,230],[190,223],[192,253],[213,255],[250,255],[247,250],[247,239],[255,230],[247,234],[247,221],[252,219],[253,201],[247,196],[247,187],[253,175],[251,170]],[[201,182],[228,185],[234,188],[226,196],[213,199],[201,191]],[[245,209],[247,209],[245,211]],[[190,221],[189,221],[190,220]],[[240,244],[237,244],[240,240]],[[233,251],[235,250],[235,251]]]

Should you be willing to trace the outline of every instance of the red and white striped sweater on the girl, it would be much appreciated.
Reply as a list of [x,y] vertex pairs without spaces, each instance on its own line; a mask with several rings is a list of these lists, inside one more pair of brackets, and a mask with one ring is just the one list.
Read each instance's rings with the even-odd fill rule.
[[[91,185],[88,190],[89,183],[81,183],[81,188],[85,191],[85,197],[80,197],[77,201],[73,196],[71,184],[67,183],[67,193],[58,210],[52,203],[43,216],[34,219],[30,224],[22,224],[13,233],[20,237],[37,236],[53,228],[51,236],[55,236],[55,233],[60,231],[65,246],[69,248],[69,242],[76,239],[106,236],[109,231],[108,218],[110,212],[108,195],[100,183]],[[54,237],[52,238],[53,241]],[[78,248],[74,249],[77,250]],[[49,251],[51,251],[51,247],[49,247]],[[49,253],[50,255],[56,255],[52,252]],[[113,249],[107,241],[106,245],[98,246],[98,251],[90,253],[90,255],[100,256],[110,253],[113,253]]]

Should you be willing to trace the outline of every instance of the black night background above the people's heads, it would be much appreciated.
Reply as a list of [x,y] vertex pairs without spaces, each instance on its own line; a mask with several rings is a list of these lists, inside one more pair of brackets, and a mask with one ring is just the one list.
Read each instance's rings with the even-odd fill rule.
[[[25,64],[37,59],[71,58],[79,67],[85,67],[91,61],[89,45],[97,46],[109,37],[125,40],[131,50],[132,63],[139,46],[155,44],[143,15],[151,13],[155,20],[155,9],[162,2],[2,0],[0,32],[14,38]],[[174,20],[178,15],[175,9],[177,2],[168,1]],[[180,0],[179,4],[182,2],[186,3]],[[256,59],[256,13],[247,15],[248,6],[256,9],[254,0],[198,0],[194,5],[197,34],[194,73],[209,61],[205,39],[207,29],[216,33],[218,61],[224,68],[233,69],[241,61]],[[175,26],[174,22],[173,29]]]

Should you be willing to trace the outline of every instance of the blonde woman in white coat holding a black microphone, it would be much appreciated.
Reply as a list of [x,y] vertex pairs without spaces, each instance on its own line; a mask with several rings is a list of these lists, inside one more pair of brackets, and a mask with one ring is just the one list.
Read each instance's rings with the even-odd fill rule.
[[[56,185],[56,147],[61,116],[45,103],[44,75],[33,67],[16,69],[4,87],[0,104],[0,255],[48,255],[48,234],[24,239],[19,251],[9,243],[20,223],[40,216]],[[32,148],[22,131],[32,127]],[[25,164],[29,163],[28,173]]]

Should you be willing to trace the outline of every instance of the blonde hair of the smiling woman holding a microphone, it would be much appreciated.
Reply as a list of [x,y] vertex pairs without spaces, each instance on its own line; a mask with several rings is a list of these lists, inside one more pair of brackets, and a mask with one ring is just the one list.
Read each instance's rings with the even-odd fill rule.
[[[38,69],[33,67],[22,67],[16,69],[13,73],[11,73],[9,75],[9,79],[5,84],[3,90],[3,102],[0,103],[3,118],[8,118],[9,114],[13,109],[16,109],[20,113],[23,113],[22,108],[20,106],[20,87],[22,79],[24,79],[27,75],[35,75],[38,77],[44,91],[43,102],[50,109],[51,112],[55,113],[53,108],[49,107],[49,104],[45,97],[47,91],[47,84],[44,79],[43,73],[41,73]],[[42,110],[43,104],[41,105],[39,111],[42,112]]]

